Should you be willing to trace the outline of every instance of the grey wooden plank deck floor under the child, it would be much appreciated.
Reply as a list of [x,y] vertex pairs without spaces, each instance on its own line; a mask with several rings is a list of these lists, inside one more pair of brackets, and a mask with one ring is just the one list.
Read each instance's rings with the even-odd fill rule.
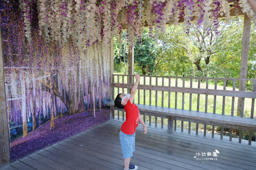
[[[123,158],[119,142],[122,122],[110,120],[71,138],[58,142],[3,170],[122,170]],[[192,136],[155,127],[136,130],[136,147],[131,162],[138,170],[256,170],[256,147],[217,138]],[[217,157],[207,152],[220,153]],[[202,152],[206,156],[202,156]],[[196,156],[200,153],[200,156]],[[196,160],[194,158],[217,158]]]

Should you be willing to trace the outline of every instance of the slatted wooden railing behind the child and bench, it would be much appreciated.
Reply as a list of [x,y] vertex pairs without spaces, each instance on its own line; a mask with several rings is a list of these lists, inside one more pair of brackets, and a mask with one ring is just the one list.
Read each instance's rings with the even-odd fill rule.
[[[112,77],[112,100],[119,93],[129,93],[135,82],[134,75],[117,75]],[[247,91],[238,91],[239,81],[247,82]],[[129,84],[128,82],[131,82]],[[229,85],[229,86],[227,86]],[[231,86],[231,87],[230,87]],[[135,96],[135,103],[143,105],[155,105],[161,107],[184,109],[189,111],[204,111],[206,113],[219,113],[226,115],[240,115],[240,117],[255,118],[255,98],[256,98],[256,79],[232,79],[232,78],[206,78],[206,77],[169,77],[169,76],[140,76],[138,91]],[[220,99],[222,97],[222,99]],[[238,106],[241,100],[241,106]],[[212,103],[209,105],[209,103]],[[120,111],[117,111],[119,119]],[[122,115],[124,121],[124,113]],[[143,116],[145,121],[145,116]],[[152,117],[148,116],[149,126]],[[157,117],[154,118],[155,127]],[[161,118],[161,127],[164,125],[164,118]],[[181,132],[183,132],[184,121],[181,121]],[[174,122],[176,130],[177,121]],[[206,136],[204,125],[204,136]],[[199,125],[196,123],[196,134]],[[214,126],[212,126],[212,137],[214,137]],[[221,127],[221,138],[223,138],[224,128]],[[191,122],[188,122],[188,132],[191,131]],[[230,129],[230,140],[232,140]],[[249,132],[249,144],[252,132]],[[242,130],[239,130],[239,142],[242,139]]]

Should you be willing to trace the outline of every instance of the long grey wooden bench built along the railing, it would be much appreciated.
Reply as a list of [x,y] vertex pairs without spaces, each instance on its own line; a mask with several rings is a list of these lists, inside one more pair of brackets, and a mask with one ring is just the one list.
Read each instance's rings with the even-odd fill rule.
[[[256,132],[256,119],[249,117],[230,116],[222,114],[205,113],[198,111],[189,111],[182,109],[173,109],[159,106],[149,106],[136,104],[139,112],[142,115],[149,115],[155,117],[162,117],[168,119],[168,131],[173,132],[173,120],[188,121],[193,123],[201,123],[206,125],[213,125],[218,127],[225,127],[238,130],[248,130]],[[124,111],[114,106],[114,101],[105,103],[105,106],[111,109]],[[112,119],[115,118],[114,112],[111,115]]]

